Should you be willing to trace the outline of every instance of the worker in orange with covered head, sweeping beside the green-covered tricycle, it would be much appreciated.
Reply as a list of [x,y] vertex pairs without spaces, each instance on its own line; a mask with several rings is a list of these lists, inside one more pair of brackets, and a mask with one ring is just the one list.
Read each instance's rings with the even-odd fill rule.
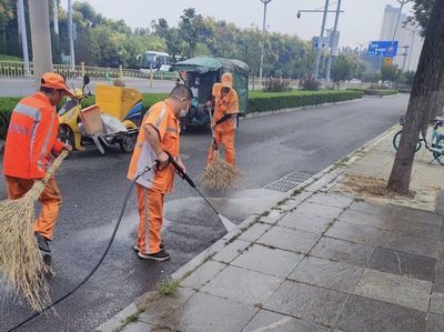
[[[222,74],[221,82],[213,85],[212,97],[214,101],[214,114],[212,129],[215,144],[225,149],[225,160],[229,164],[235,164],[234,129],[236,114],[239,113],[238,93],[233,89],[233,77],[230,72]],[[206,105],[212,107],[213,101]],[[213,161],[213,147],[210,148],[206,164]]]

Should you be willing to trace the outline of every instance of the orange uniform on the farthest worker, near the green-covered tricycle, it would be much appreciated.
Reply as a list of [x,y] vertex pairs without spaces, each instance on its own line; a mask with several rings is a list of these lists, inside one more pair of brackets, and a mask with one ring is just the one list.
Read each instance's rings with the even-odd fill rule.
[[[236,114],[239,112],[239,100],[238,93],[234,89],[230,89],[230,92],[222,98],[222,83],[215,83],[213,85],[212,94],[214,97],[214,114],[213,123],[216,123],[225,114]],[[228,163],[235,164],[235,152],[234,152],[234,118],[228,119],[226,121],[216,124],[214,128],[214,139],[219,145],[223,144],[225,149],[225,160]],[[206,163],[210,164],[213,161],[213,148],[210,147],[209,157]]]

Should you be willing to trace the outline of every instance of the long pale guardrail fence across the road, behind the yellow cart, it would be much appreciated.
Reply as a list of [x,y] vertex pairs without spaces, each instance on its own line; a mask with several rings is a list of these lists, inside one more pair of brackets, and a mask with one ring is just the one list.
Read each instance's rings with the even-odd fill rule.
[[[32,79],[34,66],[32,62],[26,66],[24,62],[16,61],[0,61],[0,78],[2,79]],[[67,66],[67,64],[54,64],[54,71],[63,74],[67,78],[89,74],[92,79],[105,79],[113,80],[118,78],[141,78],[141,79],[153,79],[153,80],[174,80],[179,78],[179,74],[173,71],[147,71],[141,72],[134,69],[123,69],[122,66],[119,68],[104,68],[104,67],[91,67],[84,66]]]

